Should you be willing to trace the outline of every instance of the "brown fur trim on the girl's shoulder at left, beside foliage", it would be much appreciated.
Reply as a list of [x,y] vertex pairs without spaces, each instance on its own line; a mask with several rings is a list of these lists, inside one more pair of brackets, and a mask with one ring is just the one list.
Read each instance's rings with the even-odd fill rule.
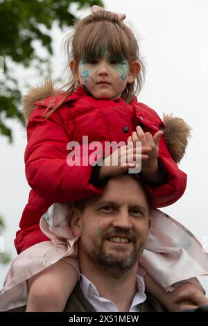
[[26,119],[30,117],[31,113],[35,109],[35,102],[53,95],[59,95],[62,92],[62,89],[54,89],[53,81],[51,79],[46,80],[44,85],[31,89],[22,99],[23,112]]

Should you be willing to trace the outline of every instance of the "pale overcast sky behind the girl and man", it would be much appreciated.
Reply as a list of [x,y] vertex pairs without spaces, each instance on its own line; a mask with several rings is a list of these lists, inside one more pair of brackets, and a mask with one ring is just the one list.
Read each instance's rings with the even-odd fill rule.
[[[207,121],[208,121],[208,1],[207,0],[105,0],[107,10],[125,12],[127,22],[139,36],[146,62],[146,83],[139,101],[162,117],[162,112],[181,117],[193,128],[180,169],[188,175],[187,190],[174,205],[162,209],[183,223],[208,248],[207,221]],[[87,15],[89,10],[82,12]],[[64,33],[54,29],[53,76],[62,71],[60,43]],[[19,74],[17,69],[17,73]],[[35,74],[21,71],[34,86]],[[41,80],[43,83],[44,80]],[[0,138],[0,214],[6,222],[5,250],[15,257],[13,239],[29,187],[24,175],[26,137],[19,123],[9,122],[14,144]],[[8,267],[2,267],[0,288]],[[200,277],[208,291],[208,277]]]

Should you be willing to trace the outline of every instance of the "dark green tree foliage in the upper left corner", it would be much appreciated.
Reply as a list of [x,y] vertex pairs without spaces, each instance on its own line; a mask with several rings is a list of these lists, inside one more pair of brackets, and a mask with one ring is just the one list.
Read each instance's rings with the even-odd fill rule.
[[[70,11],[72,3],[77,3],[78,10],[93,5],[103,6],[101,0],[0,0],[0,135],[8,137],[10,143],[12,130],[6,120],[18,119],[25,126],[19,110],[21,90],[18,78],[12,76],[12,65],[15,63],[15,67],[27,68],[33,63],[37,74],[42,78],[49,76],[49,60],[53,55],[49,31],[54,22],[61,29],[73,24],[76,17]],[[35,51],[34,42],[40,42],[46,50],[46,59]],[[1,67],[2,62],[4,67]],[[41,69],[42,64],[48,65],[48,69],[46,66]]]

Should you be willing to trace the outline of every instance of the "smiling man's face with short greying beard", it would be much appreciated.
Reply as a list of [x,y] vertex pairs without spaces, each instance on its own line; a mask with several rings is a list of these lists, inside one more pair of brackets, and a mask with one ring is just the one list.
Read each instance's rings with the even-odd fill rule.
[[148,228],[148,203],[139,183],[128,175],[111,178],[101,195],[87,200],[80,252],[101,265],[131,268],[144,250]]

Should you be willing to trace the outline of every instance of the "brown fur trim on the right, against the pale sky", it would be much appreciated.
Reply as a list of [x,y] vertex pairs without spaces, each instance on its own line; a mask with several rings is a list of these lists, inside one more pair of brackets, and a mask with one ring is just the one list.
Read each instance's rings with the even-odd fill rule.
[[192,129],[183,119],[172,117],[172,115],[163,114],[163,121],[166,125],[163,137],[173,160],[179,163],[186,151]]

